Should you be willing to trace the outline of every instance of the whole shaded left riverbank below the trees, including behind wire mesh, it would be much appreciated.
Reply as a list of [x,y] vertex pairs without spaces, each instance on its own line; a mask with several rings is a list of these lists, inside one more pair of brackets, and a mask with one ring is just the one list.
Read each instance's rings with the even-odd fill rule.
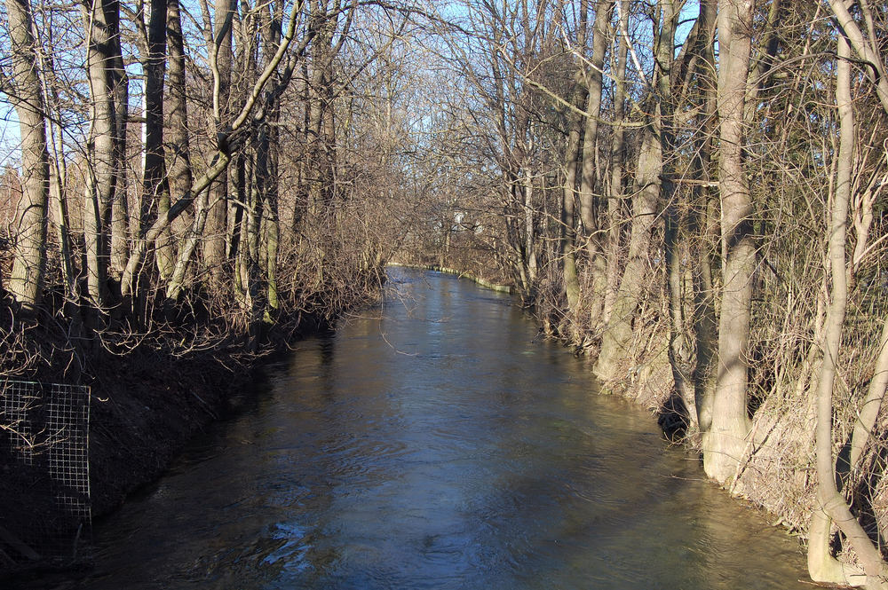
[[[372,294],[365,295],[350,300],[350,307]],[[0,326],[4,367],[18,370],[6,375],[12,387],[4,389],[9,397],[0,405],[0,471],[6,474],[0,481],[6,506],[0,512],[0,579],[83,562],[80,549],[87,547],[75,541],[84,539],[83,530],[59,523],[82,527],[88,523],[84,514],[107,515],[131,492],[154,482],[197,433],[250,403],[262,386],[261,366],[288,353],[293,342],[329,330],[332,321],[327,313],[281,314],[264,325],[257,352],[248,352],[250,334],[219,318],[155,325],[142,334],[118,327],[91,339],[73,337],[71,326],[60,322],[27,319]],[[55,393],[71,386],[89,388],[88,419],[75,409],[77,397]],[[34,387],[33,394],[18,393]],[[46,426],[53,415],[69,416],[59,424],[71,433],[71,442]],[[74,430],[82,420],[88,420],[85,439]],[[20,452],[27,455],[19,458]],[[88,457],[88,467],[80,457]],[[88,477],[88,492],[81,477]],[[76,512],[63,501],[75,502]]]

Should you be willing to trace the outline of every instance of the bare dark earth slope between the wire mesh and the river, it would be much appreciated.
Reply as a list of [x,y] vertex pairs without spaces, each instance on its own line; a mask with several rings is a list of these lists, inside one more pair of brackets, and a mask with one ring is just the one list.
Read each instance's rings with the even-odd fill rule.
[[120,506],[128,493],[163,474],[197,432],[237,412],[261,387],[261,367],[292,342],[329,329],[304,316],[288,334],[272,334],[256,356],[234,343],[178,358],[139,349],[107,358],[89,383],[92,514]]

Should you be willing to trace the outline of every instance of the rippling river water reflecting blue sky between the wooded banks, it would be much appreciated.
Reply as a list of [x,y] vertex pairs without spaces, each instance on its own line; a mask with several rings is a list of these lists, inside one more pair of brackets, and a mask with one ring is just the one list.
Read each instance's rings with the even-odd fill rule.
[[101,523],[65,587],[810,588],[794,539],[508,297],[391,276]]

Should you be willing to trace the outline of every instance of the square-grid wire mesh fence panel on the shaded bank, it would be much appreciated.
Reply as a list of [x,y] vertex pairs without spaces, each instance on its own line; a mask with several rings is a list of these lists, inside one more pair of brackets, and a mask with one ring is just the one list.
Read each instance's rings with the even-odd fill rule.
[[83,559],[89,424],[88,387],[0,381],[0,570]]

